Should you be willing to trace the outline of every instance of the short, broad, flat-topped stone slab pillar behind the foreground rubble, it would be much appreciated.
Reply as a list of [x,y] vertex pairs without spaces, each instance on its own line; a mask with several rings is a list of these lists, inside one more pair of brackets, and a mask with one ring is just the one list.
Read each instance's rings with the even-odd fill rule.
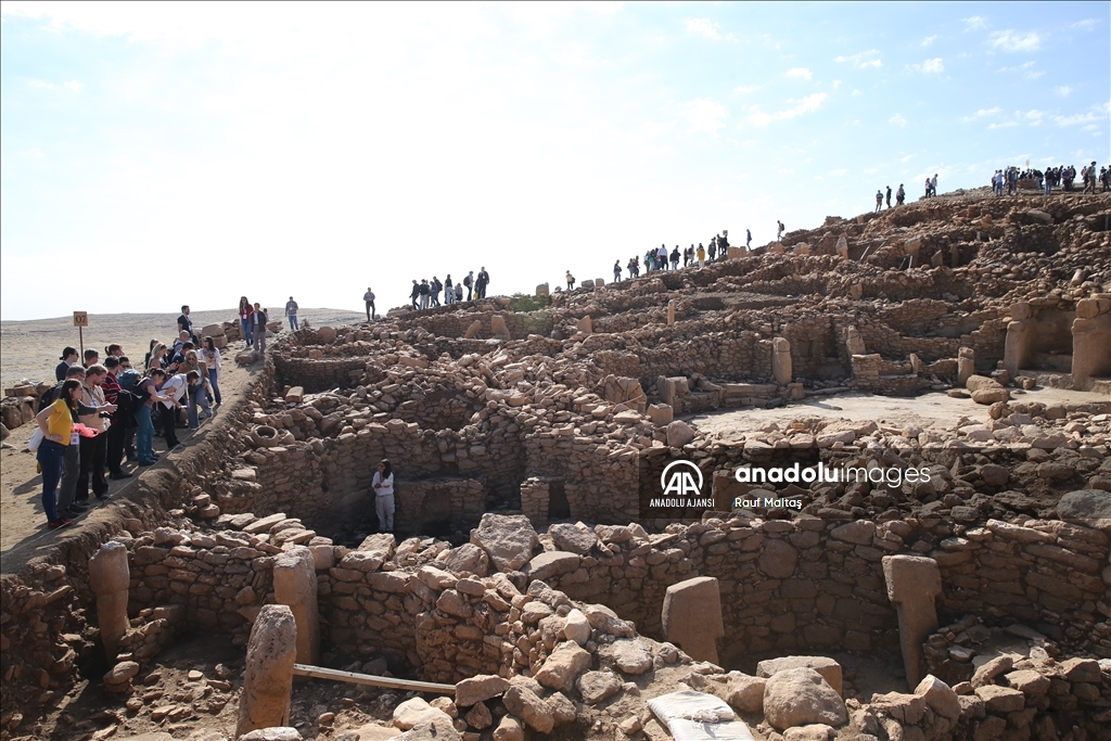
[[695,661],[718,663],[721,590],[713,577],[695,577],[668,587],[663,594],[663,638]]

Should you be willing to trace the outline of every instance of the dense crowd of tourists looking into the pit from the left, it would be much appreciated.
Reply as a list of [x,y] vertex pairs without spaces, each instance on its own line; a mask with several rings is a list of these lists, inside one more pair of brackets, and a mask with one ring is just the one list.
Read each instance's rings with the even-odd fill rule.
[[[216,417],[222,401],[220,350],[211,337],[198,339],[188,306],[181,307],[178,330],[172,346],[150,341],[141,372],[120,344],[104,348],[103,361],[91,348],[83,356],[76,348],[62,350],[54,368],[58,383],[40,399],[40,434],[31,441],[42,469],[42,508],[50,529],[64,528],[86,512],[90,491],[107,501],[108,479],[132,475],[123,470],[124,461],[153,464],[156,427],[169,452],[180,444],[182,410],[191,430],[200,427],[200,412],[206,419]],[[264,336],[264,324],[260,333]]]

